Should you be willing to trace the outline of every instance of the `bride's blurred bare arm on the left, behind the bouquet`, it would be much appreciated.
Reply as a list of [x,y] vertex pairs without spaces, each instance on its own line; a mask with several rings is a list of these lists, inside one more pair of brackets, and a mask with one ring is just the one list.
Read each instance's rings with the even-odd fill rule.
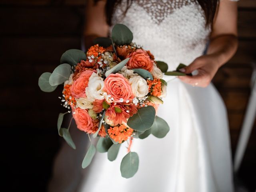
[[85,10],[84,39],[86,48],[93,45],[94,38],[108,36],[108,24],[105,15],[106,0],[87,0]]

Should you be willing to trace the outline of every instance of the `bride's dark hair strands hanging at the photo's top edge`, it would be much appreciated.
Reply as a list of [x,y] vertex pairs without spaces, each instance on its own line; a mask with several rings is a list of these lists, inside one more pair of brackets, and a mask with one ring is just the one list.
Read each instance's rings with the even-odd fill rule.
[[[97,3],[100,0],[94,0],[94,3]],[[107,18],[107,23],[109,25],[112,24],[112,15],[113,12],[118,6],[118,4],[121,3],[122,0],[107,0],[106,6],[105,6],[105,13],[106,13],[106,18]],[[206,18],[206,26],[208,24],[212,24],[215,12],[218,8],[219,0],[197,0],[198,4],[202,7],[204,10],[205,18]],[[124,11],[124,15],[126,14],[128,8],[132,4],[132,0],[126,0],[126,9]]]

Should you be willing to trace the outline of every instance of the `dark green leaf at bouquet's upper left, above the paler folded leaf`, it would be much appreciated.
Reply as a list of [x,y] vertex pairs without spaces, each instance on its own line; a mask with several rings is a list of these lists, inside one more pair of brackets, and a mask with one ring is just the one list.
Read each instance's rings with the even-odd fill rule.
[[86,60],[86,54],[82,50],[70,49],[62,54],[60,64],[68,63],[71,66],[74,66],[80,63],[81,60]]

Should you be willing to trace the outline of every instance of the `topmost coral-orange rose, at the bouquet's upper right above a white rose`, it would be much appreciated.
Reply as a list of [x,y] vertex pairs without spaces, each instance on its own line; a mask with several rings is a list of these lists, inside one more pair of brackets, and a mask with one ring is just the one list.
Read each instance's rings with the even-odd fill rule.
[[127,63],[129,69],[142,68],[150,72],[153,70],[154,65],[150,56],[142,49],[137,49],[126,58],[130,58]]

